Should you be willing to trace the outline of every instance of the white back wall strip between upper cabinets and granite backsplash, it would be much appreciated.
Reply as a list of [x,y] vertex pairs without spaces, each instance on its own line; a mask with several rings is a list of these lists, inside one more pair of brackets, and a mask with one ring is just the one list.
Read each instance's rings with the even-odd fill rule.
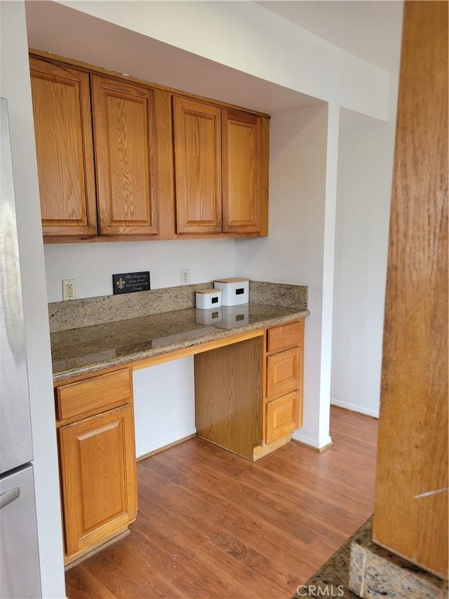
[[48,301],[62,300],[62,279],[76,279],[76,297],[112,294],[112,275],[149,270],[152,289],[234,276],[234,239],[186,239],[166,242],[46,244]]

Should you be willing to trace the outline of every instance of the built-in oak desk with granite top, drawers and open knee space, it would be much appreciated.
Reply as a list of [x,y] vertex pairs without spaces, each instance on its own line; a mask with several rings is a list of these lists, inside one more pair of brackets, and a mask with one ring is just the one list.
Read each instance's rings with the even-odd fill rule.
[[302,425],[308,314],[250,303],[214,324],[187,308],[52,334],[66,564],[137,513],[133,370],[194,355],[197,434],[255,461]]

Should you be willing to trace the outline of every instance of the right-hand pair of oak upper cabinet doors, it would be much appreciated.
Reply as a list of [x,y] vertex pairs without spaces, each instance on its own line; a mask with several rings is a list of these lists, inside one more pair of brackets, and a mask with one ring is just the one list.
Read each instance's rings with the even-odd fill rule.
[[267,235],[268,119],[173,97],[176,232]]

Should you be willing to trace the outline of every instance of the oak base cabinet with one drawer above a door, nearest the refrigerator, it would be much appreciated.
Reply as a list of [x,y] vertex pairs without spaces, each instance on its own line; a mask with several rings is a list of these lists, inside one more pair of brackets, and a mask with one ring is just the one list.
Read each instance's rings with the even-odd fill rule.
[[131,380],[123,368],[55,390],[66,563],[135,519]]

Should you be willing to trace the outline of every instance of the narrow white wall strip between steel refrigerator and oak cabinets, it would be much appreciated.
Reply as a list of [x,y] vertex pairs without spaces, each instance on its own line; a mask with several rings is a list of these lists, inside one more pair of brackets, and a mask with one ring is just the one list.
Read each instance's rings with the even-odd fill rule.
[[58,454],[25,6],[1,2],[0,96],[8,100],[32,416],[42,596],[65,596]]

